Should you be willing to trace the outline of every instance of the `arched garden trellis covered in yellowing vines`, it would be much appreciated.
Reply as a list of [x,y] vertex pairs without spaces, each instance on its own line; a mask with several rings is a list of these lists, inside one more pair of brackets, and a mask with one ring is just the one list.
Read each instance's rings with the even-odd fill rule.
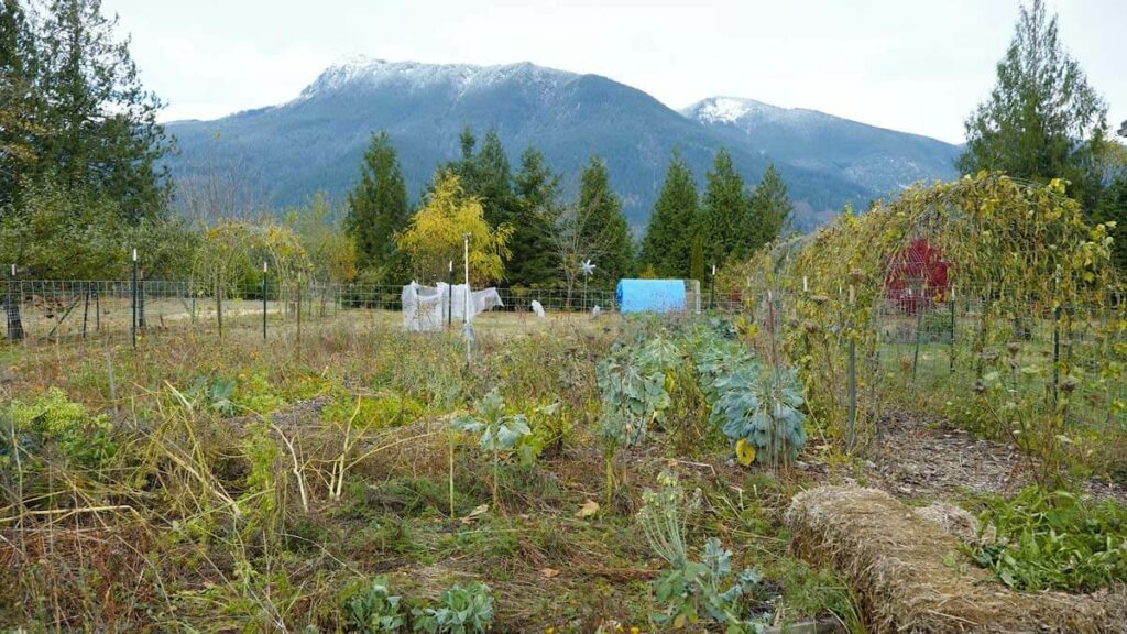
[[[919,356],[923,319],[949,310],[950,372],[931,385],[942,388],[952,411],[973,419],[993,389],[987,384],[1001,377],[1003,389],[1015,394],[1002,402],[1013,417],[1053,419],[1057,388],[1067,379],[1082,387],[1088,406],[1062,423],[1091,431],[1112,422],[1099,412],[1121,410],[1127,397],[1121,284],[1108,228],[1088,224],[1065,187],[986,173],[921,184],[761,255],[751,282],[756,318],[771,332],[764,319],[775,315],[779,343],[801,370],[814,420],[845,434],[852,344],[858,433],[871,438],[888,391],[913,387],[906,377],[915,381],[919,359],[889,359],[896,354],[889,335],[914,323]],[[765,305],[769,296],[775,306]],[[1036,381],[1014,391],[1005,384],[1018,371]],[[971,423],[1006,426],[1009,416]]]

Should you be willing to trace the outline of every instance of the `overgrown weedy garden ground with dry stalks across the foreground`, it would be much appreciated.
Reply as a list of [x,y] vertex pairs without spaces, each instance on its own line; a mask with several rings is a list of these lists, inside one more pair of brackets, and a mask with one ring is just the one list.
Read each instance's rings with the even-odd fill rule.
[[[594,367],[615,320],[482,328],[471,367],[461,338],[394,324],[322,325],[299,347],[232,322],[136,351],[0,350],[0,626],[343,632],[349,599],[387,575],[407,609],[487,583],[498,632],[654,632],[664,564],[635,513],[673,470],[700,490],[690,547],[719,537],[734,569],[760,571],[775,623],[861,629],[781,523],[795,492],[837,476],[733,466],[707,412],[686,411],[603,496]],[[450,424],[494,388],[532,431],[497,503],[490,457]]]

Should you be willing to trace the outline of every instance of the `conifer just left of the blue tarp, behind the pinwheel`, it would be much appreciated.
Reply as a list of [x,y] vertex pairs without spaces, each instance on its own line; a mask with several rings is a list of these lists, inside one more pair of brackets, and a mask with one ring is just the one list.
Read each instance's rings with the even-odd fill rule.
[[[611,190],[606,164],[592,156],[579,175],[579,210],[582,243],[589,245],[595,257],[596,276],[592,287],[613,287],[629,274],[633,264],[630,227],[622,215],[622,201]],[[589,256],[584,256],[589,257]]]

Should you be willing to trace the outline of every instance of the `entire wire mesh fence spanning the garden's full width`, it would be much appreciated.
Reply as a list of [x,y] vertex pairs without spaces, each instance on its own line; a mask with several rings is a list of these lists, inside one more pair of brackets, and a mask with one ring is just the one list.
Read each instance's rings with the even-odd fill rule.
[[[974,391],[994,377],[1013,400],[1051,413],[1057,394],[1076,377],[1068,419],[1090,429],[1127,430],[1127,320],[1124,298],[1088,305],[1046,306],[1000,298],[988,289],[960,289],[905,298],[880,294],[863,316],[842,289],[825,298],[806,291],[715,292],[686,285],[690,312],[747,315],[772,345],[772,362],[800,363],[801,345],[828,346],[827,364],[807,368],[807,380],[833,395],[843,420],[867,416],[886,399],[978,403]],[[7,345],[126,344],[178,334],[267,337],[290,345],[344,325],[363,331],[407,331],[402,287],[374,284],[264,284],[210,292],[187,281],[10,279],[2,291]],[[135,294],[134,294],[135,293]],[[478,332],[508,333],[559,323],[614,319],[619,302],[605,288],[498,289],[504,306],[474,318]],[[797,318],[804,301],[820,306],[818,334],[801,343],[788,332],[811,324]],[[547,314],[533,310],[539,302]],[[449,312],[447,329],[459,332]],[[854,333],[854,334],[850,334]],[[857,346],[854,336],[875,337]],[[800,337],[801,338],[801,337]],[[817,341],[814,341],[817,340]],[[868,341],[868,340],[867,340]],[[798,342],[798,343],[796,343]],[[796,347],[798,346],[798,347]],[[807,351],[809,353],[810,351]],[[766,354],[766,352],[764,352]],[[789,358],[787,361],[784,358]],[[960,393],[961,390],[961,393]],[[919,395],[919,398],[914,395]],[[926,397],[926,398],[925,398]],[[938,399],[938,400],[937,400]],[[1004,404],[1004,403],[1003,403]],[[868,414],[867,414],[868,413]],[[852,424],[849,425],[852,429]]]

